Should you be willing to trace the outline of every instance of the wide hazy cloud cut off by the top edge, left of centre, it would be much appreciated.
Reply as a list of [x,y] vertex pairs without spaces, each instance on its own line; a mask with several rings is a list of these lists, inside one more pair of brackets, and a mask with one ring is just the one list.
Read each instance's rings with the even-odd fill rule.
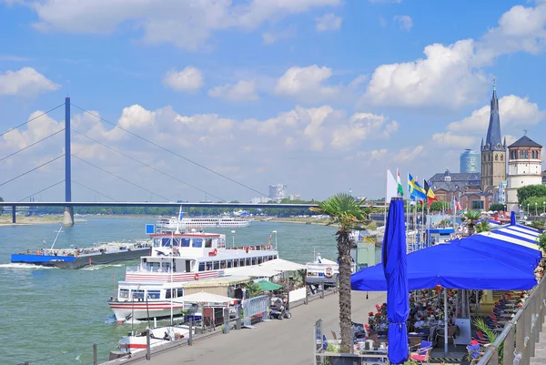
[[[234,4],[235,3],[235,4]],[[269,20],[311,9],[337,6],[341,0],[43,0],[35,10],[41,31],[111,34],[122,25],[142,30],[147,43],[171,43],[195,50],[224,29],[253,30]]]

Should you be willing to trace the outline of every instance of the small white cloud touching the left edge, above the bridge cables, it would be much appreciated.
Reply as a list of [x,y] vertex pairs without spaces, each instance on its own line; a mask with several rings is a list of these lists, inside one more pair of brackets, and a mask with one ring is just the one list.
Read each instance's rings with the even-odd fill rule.
[[0,96],[34,96],[61,87],[32,67],[0,73]]

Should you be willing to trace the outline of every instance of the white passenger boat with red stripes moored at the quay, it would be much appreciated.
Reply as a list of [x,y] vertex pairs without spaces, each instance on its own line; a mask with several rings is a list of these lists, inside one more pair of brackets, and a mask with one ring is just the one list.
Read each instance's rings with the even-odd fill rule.
[[[224,269],[258,266],[278,259],[278,250],[267,245],[226,247],[226,235],[191,229],[150,235],[151,256],[140,259],[137,267],[126,268],[119,281],[117,298],[108,304],[118,322],[167,319],[182,315],[184,283],[220,279]],[[173,300],[177,299],[177,300]]]

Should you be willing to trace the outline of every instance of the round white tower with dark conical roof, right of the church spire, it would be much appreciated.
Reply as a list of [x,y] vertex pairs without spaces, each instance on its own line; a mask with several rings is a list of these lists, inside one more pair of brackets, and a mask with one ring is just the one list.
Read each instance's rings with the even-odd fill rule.
[[523,136],[508,149],[507,206],[509,211],[520,211],[518,188],[542,184],[542,146],[530,137]]

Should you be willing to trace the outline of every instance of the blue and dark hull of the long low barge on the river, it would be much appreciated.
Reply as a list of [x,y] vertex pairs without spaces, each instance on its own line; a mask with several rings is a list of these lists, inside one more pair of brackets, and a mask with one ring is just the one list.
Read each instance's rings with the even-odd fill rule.
[[123,251],[97,253],[96,255],[81,256],[45,256],[15,254],[11,256],[11,262],[32,264],[59,269],[82,269],[89,265],[104,265],[116,261],[139,259],[149,254],[150,248],[132,248]]

